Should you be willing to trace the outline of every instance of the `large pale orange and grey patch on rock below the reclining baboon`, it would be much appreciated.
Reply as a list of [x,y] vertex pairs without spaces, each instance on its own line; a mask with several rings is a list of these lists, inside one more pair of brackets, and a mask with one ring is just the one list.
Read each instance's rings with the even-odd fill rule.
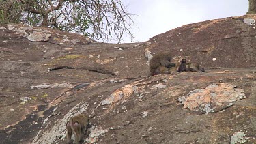
[[234,101],[246,98],[243,89],[234,89],[229,83],[213,83],[204,89],[195,89],[186,96],[180,96],[179,102],[193,113],[215,113],[232,106]]

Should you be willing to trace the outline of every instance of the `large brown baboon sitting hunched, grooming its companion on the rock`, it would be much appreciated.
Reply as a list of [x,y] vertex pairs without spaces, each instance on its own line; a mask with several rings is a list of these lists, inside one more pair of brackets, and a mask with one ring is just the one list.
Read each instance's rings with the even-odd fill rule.
[[169,74],[169,68],[176,66],[171,63],[170,53],[158,53],[150,61],[150,72],[152,75]]

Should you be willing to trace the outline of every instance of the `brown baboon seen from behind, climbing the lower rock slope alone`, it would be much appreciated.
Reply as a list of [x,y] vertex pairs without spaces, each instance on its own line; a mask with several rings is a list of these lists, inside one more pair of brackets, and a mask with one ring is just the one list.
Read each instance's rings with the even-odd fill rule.
[[68,143],[72,143],[71,136],[74,134],[74,143],[79,143],[81,138],[86,130],[86,127],[89,122],[89,117],[84,114],[75,115],[74,117],[70,117],[70,119],[66,123],[67,128],[67,139]]

